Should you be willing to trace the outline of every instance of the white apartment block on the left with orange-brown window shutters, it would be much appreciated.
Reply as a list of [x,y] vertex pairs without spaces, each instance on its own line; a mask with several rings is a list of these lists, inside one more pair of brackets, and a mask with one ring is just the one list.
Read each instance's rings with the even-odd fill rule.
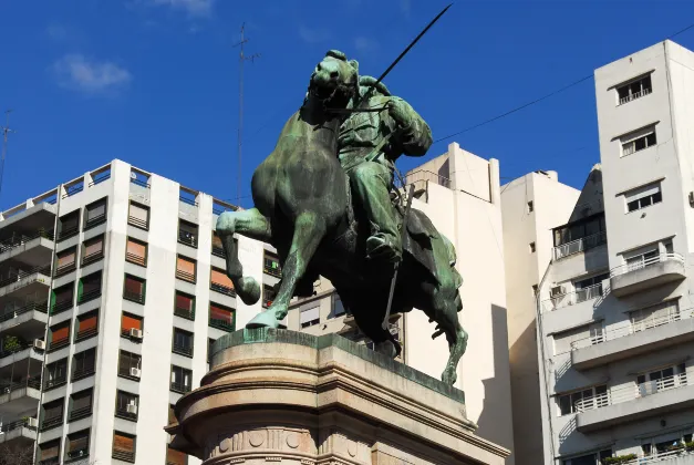
[[[167,450],[170,405],[271,299],[237,302],[224,273],[214,228],[232,208],[114,161],[0,215],[0,451],[188,463]],[[247,275],[275,285],[272,249],[238,240]]]

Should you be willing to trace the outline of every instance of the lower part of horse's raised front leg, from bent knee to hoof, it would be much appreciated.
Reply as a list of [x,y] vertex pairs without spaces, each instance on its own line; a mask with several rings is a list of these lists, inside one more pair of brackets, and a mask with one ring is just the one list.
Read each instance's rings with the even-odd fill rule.
[[221,239],[221,246],[227,258],[227,276],[234,282],[236,294],[244,303],[252,306],[260,299],[260,286],[251,277],[244,276],[244,267],[238,258],[238,244],[234,238],[236,213],[225,211],[217,219],[217,236]]

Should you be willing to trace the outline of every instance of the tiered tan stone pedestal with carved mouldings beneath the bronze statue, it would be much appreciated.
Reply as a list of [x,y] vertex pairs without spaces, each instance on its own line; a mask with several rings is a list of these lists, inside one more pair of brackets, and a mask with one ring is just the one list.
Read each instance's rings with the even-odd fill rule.
[[501,465],[464,393],[336,334],[241,330],[176,404],[172,447],[204,465]]

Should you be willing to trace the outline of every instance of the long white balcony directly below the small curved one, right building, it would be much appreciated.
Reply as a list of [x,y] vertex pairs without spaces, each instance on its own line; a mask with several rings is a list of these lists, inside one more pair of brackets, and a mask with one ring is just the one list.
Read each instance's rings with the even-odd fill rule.
[[694,309],[639,323],[608,328],[600,334],[571,343],[571,364],[587,370],[694,341]]

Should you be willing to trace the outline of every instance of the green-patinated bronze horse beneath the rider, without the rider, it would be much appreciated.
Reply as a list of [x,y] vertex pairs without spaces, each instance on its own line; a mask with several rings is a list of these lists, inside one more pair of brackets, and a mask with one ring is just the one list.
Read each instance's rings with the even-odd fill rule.
[[[311,75],[302,106],[280,134],[275,151],[253,173],[256,207],[224,213],[217,234],[227,257],[227,275],[247,304],[260,298],[260,286],[244,277],[234,234],[272,244],[279,252],[282,279],[270,308],[247,328],[277,328],[293,296],[310,296],[314,278],[328,278],[360,330],[376,351],[396,356],[401,347],[382,328],[393,266],[365,258],[369,236],[360,208],[352,208],[350,185],[338,159],[338,136],[346,108],[359,97],[358,65],[336,51],[328,52]],[[402,215],[401,215],[402,217]],[[402,221],[401,221],[402,223]],[[412,209],[392,313],[422,309],[445,334],[449,359],[442,380],[454,384],[467,333],[458,312],[463,304],[455,270],[455,249],[419,210]]]

